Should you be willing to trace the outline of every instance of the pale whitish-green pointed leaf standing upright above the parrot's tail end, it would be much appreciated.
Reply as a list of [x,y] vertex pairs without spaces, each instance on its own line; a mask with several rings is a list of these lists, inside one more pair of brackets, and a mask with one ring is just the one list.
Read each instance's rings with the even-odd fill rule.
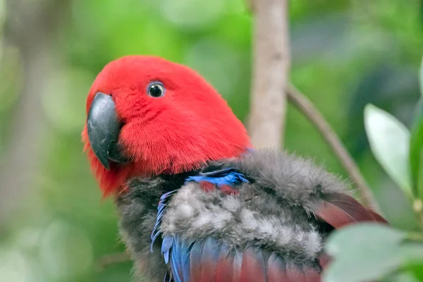
[[372,104],[364,108],[364,125],[374,157],[393,181],[411,196],[410,131],[394,116]]

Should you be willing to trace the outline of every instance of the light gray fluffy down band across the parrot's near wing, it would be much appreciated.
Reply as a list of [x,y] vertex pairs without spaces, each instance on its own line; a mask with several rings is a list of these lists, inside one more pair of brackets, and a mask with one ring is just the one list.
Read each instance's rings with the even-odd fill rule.
[[232,247],[266,246],[298,259],[317,257],[321,236],[314,226],[298,222],[289,209],[263,214],[261,201],[243,200],[247,190],[238,197],[204,192],[194,183],[185,185],[169,204],[161,231],[188,242],[212,235]]

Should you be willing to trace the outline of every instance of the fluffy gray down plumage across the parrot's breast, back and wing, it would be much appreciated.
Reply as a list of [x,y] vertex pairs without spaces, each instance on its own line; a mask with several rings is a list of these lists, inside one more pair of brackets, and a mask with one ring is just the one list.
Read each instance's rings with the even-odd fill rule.
[[204,192],[197,183],[184,185],[190,173],[130,180],[129,192],[116,200],[121,235],[135,262],[147,261],[148,276],[163,279],[167,266],[159,247],[149,251],[149,236],[159,197],[178,188],[161,223],[164,235],[188,240],[212,235],[233,247],[256,245],[319,267],[317,255],[331,226],[309,214],[310,204],[331,192],[348,193],[346,185],[312,161],[273,150],[212,162],[204,171],[225,167],[237,168],[251,180],[238,187],[239,195]]

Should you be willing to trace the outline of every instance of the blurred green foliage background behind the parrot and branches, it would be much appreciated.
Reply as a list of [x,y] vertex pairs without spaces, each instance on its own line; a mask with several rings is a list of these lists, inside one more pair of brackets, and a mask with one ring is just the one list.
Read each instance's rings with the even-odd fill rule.
[[[162,56],[199,71],[245,121],[253,23],[244,0],[0,0],[0,281],[130,281],[129,262],[96,267],[123,245],[82,154],[90,85],[119,56]],[[292,0],[290,39],[291,81],[340,135],[384,215],[412,228],[410,203],[369,150],[363,109],[410,125],[422,3]],[[292,106],[284,146],[347,176]]]

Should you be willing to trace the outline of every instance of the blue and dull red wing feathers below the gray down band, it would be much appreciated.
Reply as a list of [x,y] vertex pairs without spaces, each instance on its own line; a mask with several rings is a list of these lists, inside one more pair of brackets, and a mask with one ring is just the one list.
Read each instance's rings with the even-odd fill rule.
[[[216,238],[189,243],[178,237],[164,238],[162,252],[175,282],[314,282],[319,271],[289,262],[259,247],[233,250]],[[172,278],[171,278],[172,277]]]

